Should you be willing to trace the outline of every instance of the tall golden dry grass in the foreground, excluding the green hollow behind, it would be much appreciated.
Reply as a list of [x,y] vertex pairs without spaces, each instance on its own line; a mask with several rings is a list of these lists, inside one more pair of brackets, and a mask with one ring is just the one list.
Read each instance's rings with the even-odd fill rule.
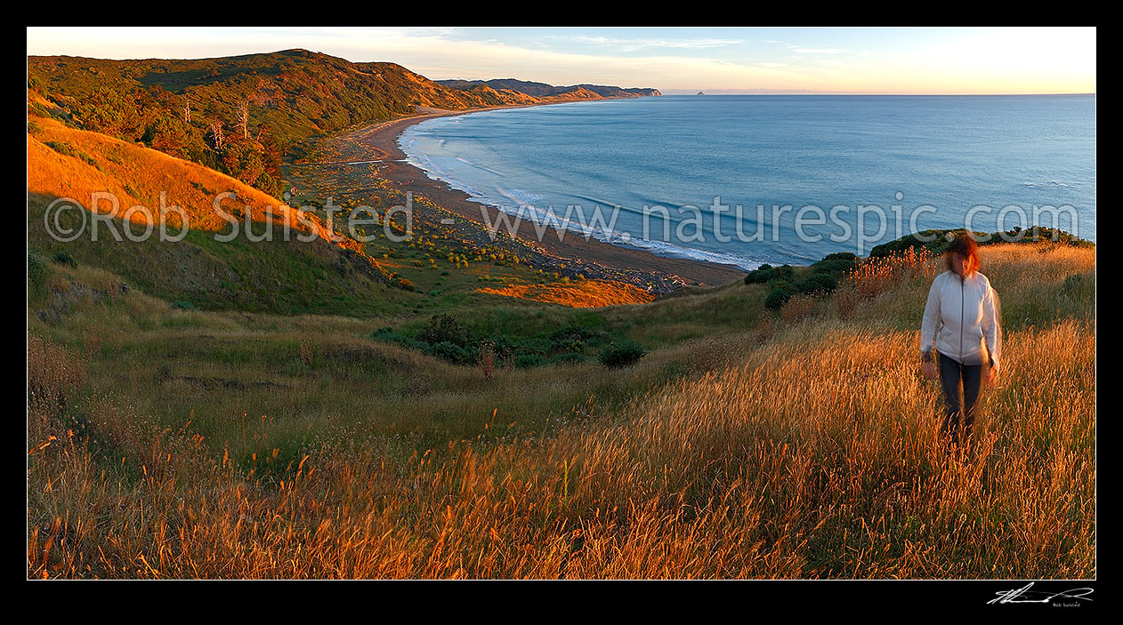
[[[1080,291],[1095,257],[1040,249],[984,248],[1011,330],[959,456],[939,443],[938,383],[917,370],[929,260],[844,318],[822,306],[668,348],[704,353],[709,373],[547,436],[412,454],[343,439],[276,467],[280,425],[263,419],[247,470],[193,425],[152,430],[94,394],[91,442],[67,434],[66,410],[40,415],[60,444],[28,457],[28,576],[1095,577],[1095,327]],[[33,359],[43,349],[29,338],[44,396],[73,396],[77,357],[47,344]]]

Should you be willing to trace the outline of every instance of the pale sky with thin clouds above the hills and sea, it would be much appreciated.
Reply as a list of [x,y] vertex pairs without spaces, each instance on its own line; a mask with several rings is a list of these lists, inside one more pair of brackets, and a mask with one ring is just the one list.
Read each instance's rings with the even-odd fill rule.
[[1095,93],[1096,29],[29,27],[28,55],[207,58],[305,48],[428,79],[664,93]]

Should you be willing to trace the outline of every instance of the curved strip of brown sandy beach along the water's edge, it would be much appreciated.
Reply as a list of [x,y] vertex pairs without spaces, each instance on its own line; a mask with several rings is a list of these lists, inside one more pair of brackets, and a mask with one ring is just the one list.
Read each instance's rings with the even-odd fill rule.
[[[386,159],[385,166],[378,172],[378,176],[386,178],[401,191],[413,192],[414,195],[428,196],[453,213],[477,223],[485,223],[484,214],[486,214],[486,219],[494,223],[499,213],[497,209],[469,201],[467,193],[453,189],[442,181],[431,180],[423,171],[402,160],[405,158],[405,154],[398,146],[396,139],[405,128],[427,119],[511,108],[520,107],[495,107],[467,111],[419,108],[419,112],[421,113],[419,116],[377,123],[353,132],[350,138],[369,148],[374,158]],[[574,232],[566,232],[559,241],[558,233],[554,229],[548,229],[546,237],[541,241],[538,241],[533,224],[526,220],[520,222],[518,233],[522,239],[538,242],[538,245],[554,256],[584,259],[619,269],[669,274],[678,276],[688,284],[727,284],[740,279],[746,273],[743,269],[732,265],[667,258],[639,249],[605,243],[593,238],[586,240]]]

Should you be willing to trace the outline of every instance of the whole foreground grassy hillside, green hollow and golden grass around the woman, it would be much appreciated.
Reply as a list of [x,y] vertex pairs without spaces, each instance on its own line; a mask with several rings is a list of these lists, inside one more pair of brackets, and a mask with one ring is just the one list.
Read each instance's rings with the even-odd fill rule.
[[650,350],[490,380],[377,320],[29,309],[28,575],[1095,577],[1095,250],[982,255],[1003,377],[953,458],[916,366],[925,255],[777,312],[740,283],[509,311]]

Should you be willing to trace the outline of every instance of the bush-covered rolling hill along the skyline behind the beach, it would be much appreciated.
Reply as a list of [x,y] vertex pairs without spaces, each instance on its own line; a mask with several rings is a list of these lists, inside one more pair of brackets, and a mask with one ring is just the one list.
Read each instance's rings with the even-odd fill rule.
[[29,56],[27,72],[29,112],[200,163],[275,197],[282,160],[304,156],[310,139],[419,107],[637,96],[593,85],[541,95],[505,85],[456,89],[394,63],[304,49],[200,59]]

